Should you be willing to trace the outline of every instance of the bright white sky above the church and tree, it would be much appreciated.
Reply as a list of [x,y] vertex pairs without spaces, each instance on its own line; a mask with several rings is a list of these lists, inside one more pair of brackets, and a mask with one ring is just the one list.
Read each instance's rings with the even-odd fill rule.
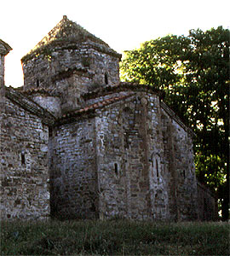
[[122,53],[169,33],[229,28],[229,9],[229,0],[1,0],[0,38],[13,48],[6,56],[5,84],[23,84],[21,57],[63,15]]

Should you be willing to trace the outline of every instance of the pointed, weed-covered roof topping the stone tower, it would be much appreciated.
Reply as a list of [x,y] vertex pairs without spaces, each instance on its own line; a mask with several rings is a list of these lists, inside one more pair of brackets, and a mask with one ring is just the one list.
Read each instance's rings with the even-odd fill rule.
[[76,44],[85,41],[100,46],[101,49],[111,52],[113,55],[119,55],[116,51],[111,49],[108,44],[102,41],[100,38],[96,38],[95,35],[85,30],[82,26],[72,20],[68,20],[66,15],[63,19],[45,36],[29,53],[22,58],[22,61],[29,55],[37,53],[37,51],[55,46],[63,46],[66,44]]

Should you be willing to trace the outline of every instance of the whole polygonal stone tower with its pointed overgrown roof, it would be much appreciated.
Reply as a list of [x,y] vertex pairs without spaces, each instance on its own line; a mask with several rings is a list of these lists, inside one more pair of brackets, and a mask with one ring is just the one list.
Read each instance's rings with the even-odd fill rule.
[[24,90],[43,88],[61,95],[64,108],[80,96],[119,83],[121,55],[66,16],[22,58]]

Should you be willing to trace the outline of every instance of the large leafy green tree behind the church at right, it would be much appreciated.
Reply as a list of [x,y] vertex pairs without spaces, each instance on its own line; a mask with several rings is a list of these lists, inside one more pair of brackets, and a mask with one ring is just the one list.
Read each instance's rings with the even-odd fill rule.
[[222,26],[148,41],[125,51],[122,79],[165,91],[170,108],[196,133],[199,181],[216,191],[222,218],[229,205],[229,30]]

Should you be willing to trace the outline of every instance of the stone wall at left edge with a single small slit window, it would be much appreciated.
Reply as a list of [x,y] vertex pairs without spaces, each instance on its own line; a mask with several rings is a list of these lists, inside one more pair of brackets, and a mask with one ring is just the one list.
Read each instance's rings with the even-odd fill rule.
[[48,126],[9,99],[1,118],[1,217],[48,218]]

